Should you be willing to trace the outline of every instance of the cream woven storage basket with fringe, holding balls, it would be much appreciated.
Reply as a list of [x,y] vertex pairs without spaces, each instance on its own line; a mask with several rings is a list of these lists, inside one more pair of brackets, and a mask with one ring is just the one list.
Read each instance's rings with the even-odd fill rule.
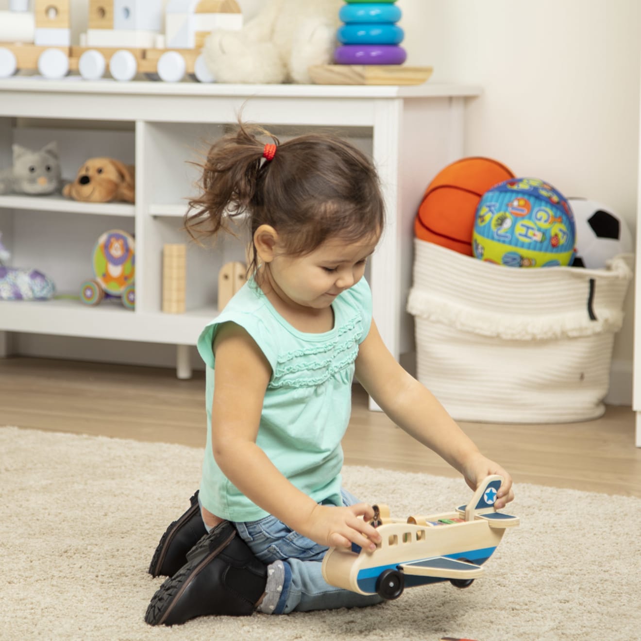
[[628,260],[515,269],[415,240],[408,312],[419,380],[457,420],[601,416]]

